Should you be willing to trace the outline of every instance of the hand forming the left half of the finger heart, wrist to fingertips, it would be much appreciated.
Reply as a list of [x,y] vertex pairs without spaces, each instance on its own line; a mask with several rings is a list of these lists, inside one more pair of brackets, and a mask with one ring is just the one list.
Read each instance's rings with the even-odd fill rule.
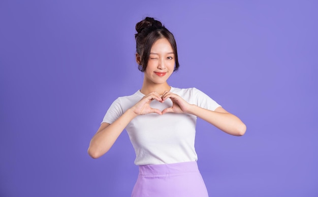
[[162,115],[162,112],[160,110],[150,107],[150,103],[153,100],[161,102],[162,98],[157,92],[151,92],[150,94],[142,97],[141,100],[138,103],[136,103],[131,109],[136,115],[144,115],[150,113],[157,113]]

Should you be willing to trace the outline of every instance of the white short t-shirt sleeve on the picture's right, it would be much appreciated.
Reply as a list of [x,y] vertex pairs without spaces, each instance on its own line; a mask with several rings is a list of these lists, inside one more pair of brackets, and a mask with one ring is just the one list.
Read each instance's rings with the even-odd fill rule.
[[210,96],[197,88],[193,88],[193,95],[195,95],[195,103],[197,106],[214,111],[216,108],[221,107]]

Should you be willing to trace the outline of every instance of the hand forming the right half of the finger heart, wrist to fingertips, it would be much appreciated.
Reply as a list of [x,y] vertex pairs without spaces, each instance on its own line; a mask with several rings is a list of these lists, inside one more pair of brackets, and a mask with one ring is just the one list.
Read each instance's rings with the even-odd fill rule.
[[169,91],[165,91],[163,93],[162,97],[162,103],[165,102],[168,98],[172,101],[172,107],[166,108],[162,111],[162,114],[165,113],[188,113],[188,109],[190,108],[190,104],[184,101],[183,98],[181,98],[178,94],[174,94]]

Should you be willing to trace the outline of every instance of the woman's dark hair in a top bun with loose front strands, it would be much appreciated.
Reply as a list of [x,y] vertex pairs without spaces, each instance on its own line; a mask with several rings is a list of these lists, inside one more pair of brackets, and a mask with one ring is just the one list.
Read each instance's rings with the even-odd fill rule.
[[138,65],[139,71],[144,72],[146,70],[151,47],[155,41],[161,38],[167,39],[171,44],[175,57],[175,68],[173,71],[178,70],[179,61],[176,41],[173,34],[160,21],[146,17],[136,24],[136,30],[136,52],[141,58]]

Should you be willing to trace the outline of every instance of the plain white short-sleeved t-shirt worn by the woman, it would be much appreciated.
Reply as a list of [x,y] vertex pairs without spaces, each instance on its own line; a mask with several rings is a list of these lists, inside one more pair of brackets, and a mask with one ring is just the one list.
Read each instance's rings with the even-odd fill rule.
[[[214,111],[220,107],[208,95],[196,88],[171,87],[170,92],[178,94],[189,104]],[[118,97],[108,109],[103,122],[113,123],[126,110],[145,96],[138,90],[130,96]],[[153,100],[152,108],[164,110],[172,106],[170,99],[164,103]],[[191,114],[146,114],[135,117],[126,130],[136,152],[136,165],[153,165],[196,161],[195,151],[197,116]]]

